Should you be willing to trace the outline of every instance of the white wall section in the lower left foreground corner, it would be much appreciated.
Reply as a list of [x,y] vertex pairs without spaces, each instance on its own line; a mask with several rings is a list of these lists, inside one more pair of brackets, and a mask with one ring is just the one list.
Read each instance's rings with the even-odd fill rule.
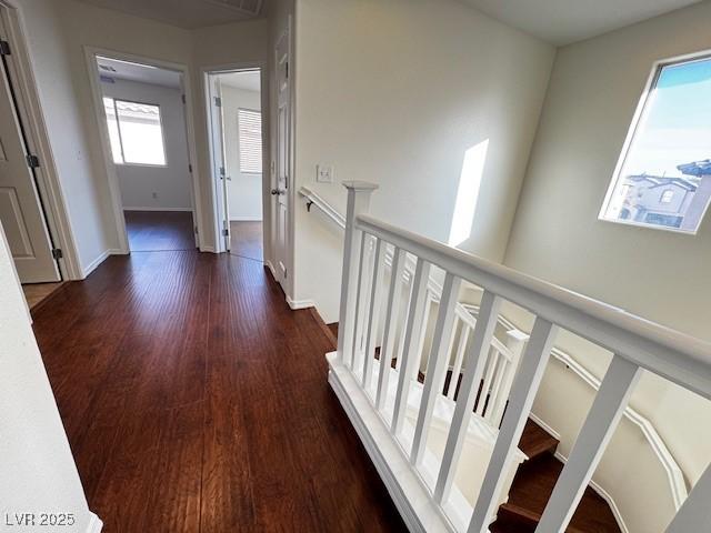
[[[87,533],[96,516],[89,511],[57,403],[42,364],[14,265],[0,227],[0,516],[34,513],[34,526],[47,531],[39,513],[72,513],[68,532]],[[97,523],[98,524],[98,523]]]

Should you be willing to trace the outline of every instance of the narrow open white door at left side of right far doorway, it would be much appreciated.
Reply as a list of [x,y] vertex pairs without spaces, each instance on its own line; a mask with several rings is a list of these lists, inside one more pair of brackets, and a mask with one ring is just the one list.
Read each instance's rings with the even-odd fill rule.
[[[212,164],[214,165],[213,175],[217,179],[216,184],[216,203],[218,229],[222,238],[224,250],[230,251],[230,213],[228,210],[227,193],[227,155],[224,152],[224,117],[222,112],[222,88],[220,87],[220,78],[217,74],[210,74],[210,123],[212,127]],[[219,240],[219,239],[218,239]],[[221,250],[218,250],[221,251]]]

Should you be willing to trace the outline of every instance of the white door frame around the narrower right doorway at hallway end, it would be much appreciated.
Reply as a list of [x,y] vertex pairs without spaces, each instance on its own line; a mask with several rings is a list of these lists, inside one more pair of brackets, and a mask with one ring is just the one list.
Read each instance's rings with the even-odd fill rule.
[[271,143],[270,143],[270,122],[269,122],[269,76],[267,63],[264,61],[239,61],[233,63],[222,63],[217,66],[203,67],[202,74],[202,92],[204,97],[204,127],[208,135],[208,167],[210,172],[210,204],[212,207],[212,225],[216,235],[216,253],[226,252],[224,239],[222,239],[222,221],[220,220],[220,210],[218,208],[218,191],[221,187],[220,177],[214,171],[214,139],[212,137],[211,127],[211,107],[212,102],[210,76],[227,74],[240,70],[259,70],[260,73],[260,101],[262,117],[262,250],[264,254],[264,263],[269,264],[268,258],[271,258],[271,203],[269,191],[271,189],[271,172],[269,169],[271,161]]

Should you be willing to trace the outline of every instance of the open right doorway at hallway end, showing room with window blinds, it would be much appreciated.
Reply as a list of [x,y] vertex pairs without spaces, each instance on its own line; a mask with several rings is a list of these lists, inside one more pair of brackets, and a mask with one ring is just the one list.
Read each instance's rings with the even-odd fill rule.
[[263,261],[260,69],[207,73],[216,218],[224,250]]

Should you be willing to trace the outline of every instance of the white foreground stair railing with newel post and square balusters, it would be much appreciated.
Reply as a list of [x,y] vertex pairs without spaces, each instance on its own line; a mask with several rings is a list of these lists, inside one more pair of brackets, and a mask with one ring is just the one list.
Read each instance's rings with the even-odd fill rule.
[[[367,207],[374,187],[364,183],[344,185],[349,202],[339,348],[327,356],[330,365],[329,382],[412,531],[488,531],[501,503],[502,490],[510,477],[509,465],[517,452],[517,444],[560,328],[611,351],[613,359],[545,506],[537,529],[539,533],[562,532],[567,529],[642,370],[707,399],[711,398],[710,344],[369,217]],[[363,255],[368,240],[375,242],[372,276],[367,275],[368,261]],[[415,261],[408,312],[404,313],[403,350],[397,371],[393,405],[383,400],[390,376],[382,375],[391,372],[394,353],[392,324],[397,322],[391,314],[395,309],[393,301],[398,289],[389,290],[381,302],[384,298],[381,289],[382,263],[388,248],[394,248],[395,275],[390,276],[390,283],[394,280],[394,283],[400,284],[401,276],[398,272],[402,268],[404,254]],[[427,285],[432,268],[444,272],[442,296],[429,350],[414,433],[403,441],[408,391],[417,381],[420,365],[420,354],[417,352],[419,334],[425,320]],[[438,398],[450,393],[442,388],[453,343],[459,288],[463,282],[473,283],[484,292],[473,332],[469,333],[472,339],[465,349],[465,363],[462,363],[464,375],[457,394],[455,410],[438,465],[439,471],[434,480],[428,480],[421,466],[429,461],[425,449],[432,411]],[[497,374],[495,370],[490,371],[490,365],[488,366],[493,328],[503,301],[512,302],[535,316],[514,378],[511,374],[513,371]],[[378,351],[378,313],[383,306],[388,323],[387,341]],[[362,328],[365,328],[365,353],[362,358],[357,358],[357,348],[362,345],[357,332]],[[512,379],[513,383],[491,460],[475,504],[463,516],[461,506],[458,507],[452,501],[458,493],[452,492],[451,487],[460,460],[461,443],[467,434],[469,420],[474,415],[479,384],[483,380],[483,386],[489,388],[482,388],[483,398],[484,390],[495,390],[508,379]],[[455,383],[454,376],[452,381]],[[499,381],[500,384],[497,384]],[[477,405],[477,414],[485,415],[488,409],[484,405],[480,412]],[[500,403],[494,402],[492,412],[501,409]],[[403,442],[411,446],[402,446]],[[668,529],[669,532],[709,529],[709,486],[711,470],[707,470],[691,492],[678,517]],[[422,497],[423,495],[427,497]]]

